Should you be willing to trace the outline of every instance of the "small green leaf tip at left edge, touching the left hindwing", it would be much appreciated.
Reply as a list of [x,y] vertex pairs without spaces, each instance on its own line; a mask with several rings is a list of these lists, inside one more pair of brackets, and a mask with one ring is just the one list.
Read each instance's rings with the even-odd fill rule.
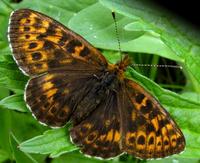
[[3,100],[0,101],[0,106],[6,107],[11,110],[17,110],[21,112],[27,112],[28,109],[26,107],[26,104],[23,100],[24,96],[23,95],[12,95],[9,97],[4,98]]

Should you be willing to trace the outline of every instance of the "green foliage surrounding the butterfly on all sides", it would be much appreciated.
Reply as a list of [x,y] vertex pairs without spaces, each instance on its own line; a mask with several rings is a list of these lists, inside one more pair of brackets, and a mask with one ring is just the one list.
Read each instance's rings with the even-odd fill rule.
[[[0,162],[199,162],[200,158],[200,32],[157,8],[147,0],[23,0],[0,1]],[[17,2],[17,1],[16,1]],[[100,48],[110,62],[120,59],[111,10],[117,14],[121,49],[134,63],[158,64],[161,57],[183,67],[185,85],[178,93],[153,82],[157,68],[132,67],[127,76],[149,90],[181,127],[186,151],[162,160],[141,161],[127,154],[112,160],[97,160],[80,154],[70,143],[68,127],[49,129],[28,112],[23,91],[28,77],[12,59],[6,31],[13,9],[30,8],[45,13]],[[103,18],[103,19],[102,19]],[[154,55],[152,55],[154,54]],[[170,72],[169,72],[170,73]],[[143,76],[146,75],[147,77]],[[173,78],[182,78],[176,73]],[[161,76],[158,76],[161,77]],[[150,80],[150,79],[152,80]],[[178,81],[178,80],[176,80]],[[162,85],[162,83],[159,83]]]

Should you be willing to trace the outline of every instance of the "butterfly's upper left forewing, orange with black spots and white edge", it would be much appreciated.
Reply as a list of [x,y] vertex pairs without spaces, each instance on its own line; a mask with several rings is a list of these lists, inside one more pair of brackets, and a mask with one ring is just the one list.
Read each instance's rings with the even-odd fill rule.
[[27,75],[71,70],[75,65],[79,70],[107,65],[103,55],[81,36],[33,10],[20,9],[11,14],[8,38],[14,59]]

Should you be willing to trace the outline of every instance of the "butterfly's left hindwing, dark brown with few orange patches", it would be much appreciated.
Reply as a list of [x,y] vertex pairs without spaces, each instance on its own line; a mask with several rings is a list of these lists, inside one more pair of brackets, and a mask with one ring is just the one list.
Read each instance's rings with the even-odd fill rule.
[[87,72],[79,75],[72,72],[40,75],[29,80],[26,103],[40,122],[52,127],[63,126],[71,118],[73,109],[90,91],[93,81]]

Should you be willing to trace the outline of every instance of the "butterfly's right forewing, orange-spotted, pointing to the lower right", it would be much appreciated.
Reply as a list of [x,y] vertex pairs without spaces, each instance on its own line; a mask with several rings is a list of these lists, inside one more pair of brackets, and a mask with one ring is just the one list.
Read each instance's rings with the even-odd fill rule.
[[142,159],[162,158],[184,150],[185,139],[164,108],[132,80],[118,99],[121,108],[123,151]]

